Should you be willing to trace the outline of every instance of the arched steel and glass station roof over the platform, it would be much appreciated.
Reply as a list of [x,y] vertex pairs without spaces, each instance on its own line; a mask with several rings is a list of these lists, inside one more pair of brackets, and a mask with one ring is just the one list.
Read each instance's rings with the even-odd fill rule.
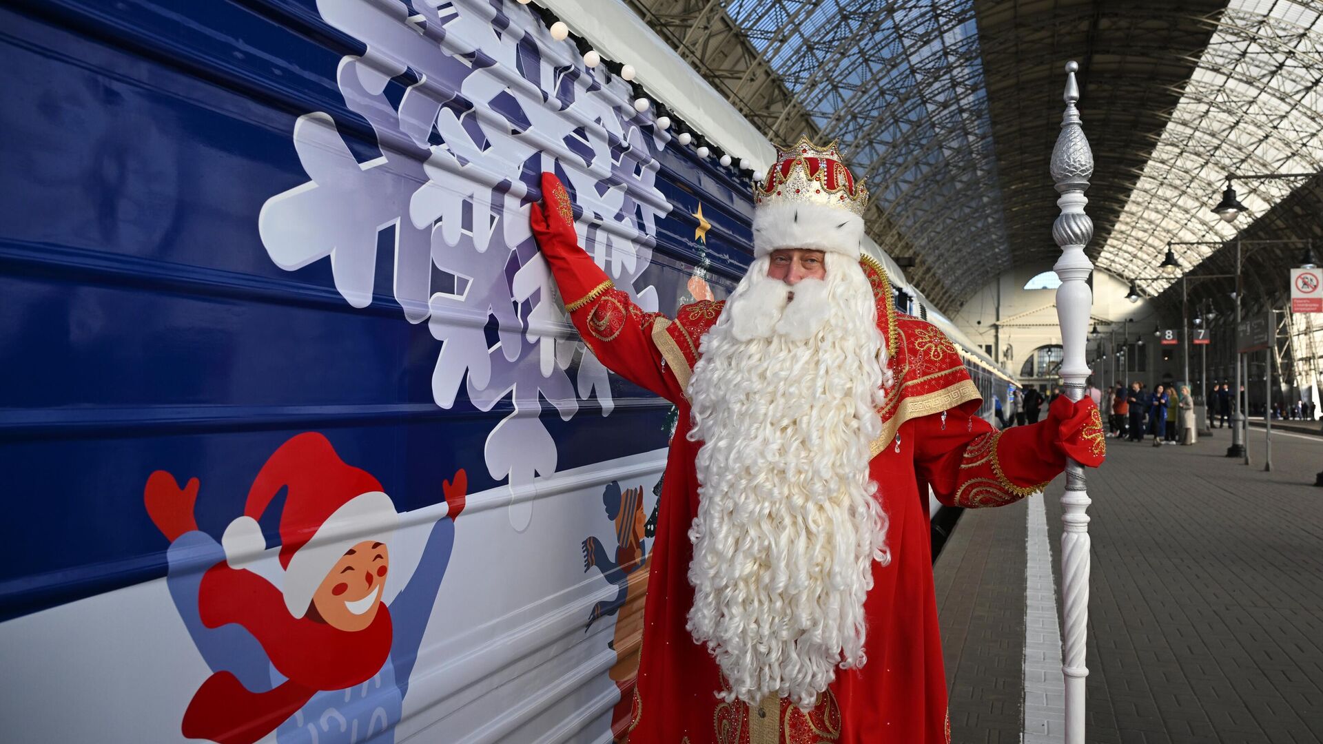
[[839,138],[869,234],[946,312],[1058,254],[1066,60],[1095,160],[1089,253],[1117,275],[1156,275],[1168,241],[1233,237],[1307,181],[1237,181],[1249,214],[1228,225],[1211,212],[1228,175],[1323,169],[1320,0],[627,1],[773,142]]

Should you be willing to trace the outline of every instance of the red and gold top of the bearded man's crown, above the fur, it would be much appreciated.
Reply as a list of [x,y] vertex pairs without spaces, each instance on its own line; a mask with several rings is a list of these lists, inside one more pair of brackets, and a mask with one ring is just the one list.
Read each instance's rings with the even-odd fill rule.
[[855,183],[836,142],[819,147],[802,136],[794,147],[778,148],[777,164],[754,187],[754,204],[816,204],[847,209],[863,217],[868,189]]

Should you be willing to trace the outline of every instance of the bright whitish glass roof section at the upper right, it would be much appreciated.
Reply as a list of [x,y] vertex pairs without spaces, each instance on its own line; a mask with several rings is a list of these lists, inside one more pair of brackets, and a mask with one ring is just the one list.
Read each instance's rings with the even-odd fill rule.
[[[1323,23],[1289,0],[1232,0],[1172,111],[1098,266],[1156,275],[1167,241],[1222,241],[1285,199],[1302,179],[1237,180],[1249,214],[1212,212],[1229,175],[1323,169]],[[1212,246],[1177,246],[1195,266]],[[1143,279],[1155,294],[1174,279]]]

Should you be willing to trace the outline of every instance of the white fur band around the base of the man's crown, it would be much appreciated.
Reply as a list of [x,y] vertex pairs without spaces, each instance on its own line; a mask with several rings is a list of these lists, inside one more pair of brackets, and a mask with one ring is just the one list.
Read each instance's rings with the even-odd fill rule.
[[822,204],[766,204],[753,210],[753,254],[778,248],[811,248],[859,258],[864,218],[844,208]]

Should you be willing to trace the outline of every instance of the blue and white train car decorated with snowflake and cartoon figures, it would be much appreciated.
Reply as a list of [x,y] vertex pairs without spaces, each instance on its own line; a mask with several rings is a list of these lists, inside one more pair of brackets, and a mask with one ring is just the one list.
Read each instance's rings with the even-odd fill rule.
[[4,741],[611,741],[671,406],[578,340],[538,173],[647,310],[736,173],[513,0],[0,8]]

